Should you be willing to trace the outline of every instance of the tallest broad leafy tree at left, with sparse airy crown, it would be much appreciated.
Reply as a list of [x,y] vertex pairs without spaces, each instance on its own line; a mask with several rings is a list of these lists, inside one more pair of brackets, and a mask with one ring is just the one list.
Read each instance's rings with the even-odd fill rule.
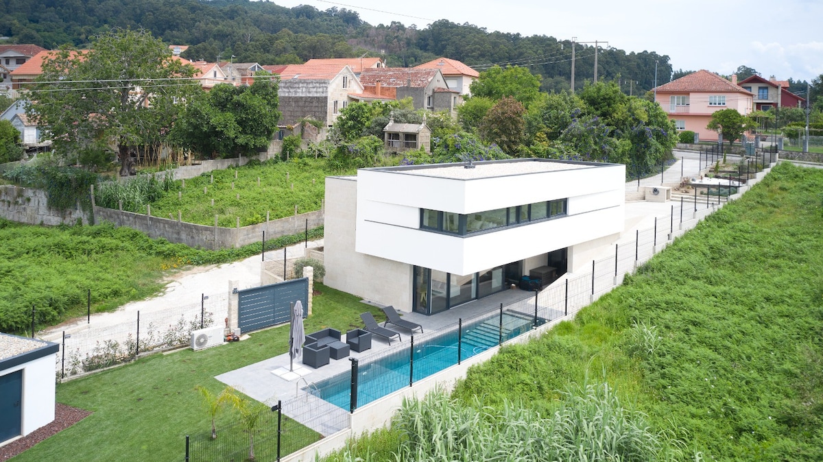
[[73,159],[89,146],[114,144],[126,176],[130,150],[163,141],[177,102],[201,91],[187,80],[193,72],[149,32],[113,30],[87,52],[63,48],[46,58],[26,113],[60,155]]

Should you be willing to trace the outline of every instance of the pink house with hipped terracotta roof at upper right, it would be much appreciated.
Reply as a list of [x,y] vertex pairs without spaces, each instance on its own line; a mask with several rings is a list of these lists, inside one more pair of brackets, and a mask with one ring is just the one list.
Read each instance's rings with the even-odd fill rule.
[[737,76],[728,81],[714,72],[698,71],[660,85],[656,102],[675,121],[677,131],[690,130],[704,141],[716,141],[718,133],[706,128],[712,113],[720,109],[736,109],[751,113],[753,96],[737,85]]

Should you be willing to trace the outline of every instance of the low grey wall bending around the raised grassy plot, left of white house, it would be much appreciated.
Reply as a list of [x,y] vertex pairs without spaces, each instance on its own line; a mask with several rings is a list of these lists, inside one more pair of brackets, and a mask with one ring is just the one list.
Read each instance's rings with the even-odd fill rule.
[[170,243],[181,243],[189,247],[212,250],[259,243],[263,240],[263,231],[266,232],[266,240],[303,233],[307,219],[309,229],[323,225],[323,210],[273,219],[266,223],[252,224],[242,228],[220,228],[98,206],[93,206],[93,209],[96,223],[109,221],[115,226],[128,226],[128,228],[142,231],[150,238],[165,238]]

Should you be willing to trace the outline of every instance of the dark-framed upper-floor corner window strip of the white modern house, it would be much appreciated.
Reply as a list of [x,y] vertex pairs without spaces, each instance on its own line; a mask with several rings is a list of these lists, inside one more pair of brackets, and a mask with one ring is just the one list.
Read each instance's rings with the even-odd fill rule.
[[543,201],[467,215],[421,209],[420,227],[449,234],[466,235],[528,224],[566,215],[566,199]]

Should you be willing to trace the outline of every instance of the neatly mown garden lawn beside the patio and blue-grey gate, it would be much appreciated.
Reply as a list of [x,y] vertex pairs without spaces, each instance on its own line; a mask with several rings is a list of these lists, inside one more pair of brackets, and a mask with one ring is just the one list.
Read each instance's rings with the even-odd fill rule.
[[[361,326],[360,313],[379,309],[360,298],[315,284],[307,332]],[[13,460],[183,460],[185,435],[210,432],[211,423],[195,386],[213,393],[223,384],[213,377],[288,351],[288,326],[261,330],[249,340],[193,352],[152,354],[134,363],[58,384],[57,400],[93,413]],[[228,413],[218,414],[220,425]],[[319,435],[305,430],[315,440]],[[286,439],[284,439],[286,441]],[[313,441],[305,441],[308,445]],[[286,447],[286,455],[299,447]]]

